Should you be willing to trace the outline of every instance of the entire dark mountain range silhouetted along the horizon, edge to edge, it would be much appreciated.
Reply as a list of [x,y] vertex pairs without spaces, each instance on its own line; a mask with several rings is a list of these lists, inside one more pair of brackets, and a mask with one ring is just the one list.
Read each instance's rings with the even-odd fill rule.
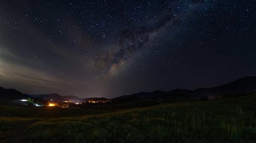
[[44,100],[60,101],[87,101],[87,100],[111,100],[113,103],[134,103],[134,102],[180,102],[198,100],[202,96],[209,98],[220,98],[230,96],[241,96],[250,93],[256,93],[256,77],[247,76],[238,80],[220,85],[214,88],[200,88],[197,90],[183,90],[175,89],[172,91],[154,91],[154,92],[140,92],[132,95],[120,96],[113,99],[107,98],[79,98],[77,96],[61,96],[59,94],[45,94],[45,95],[27,95],[13,89],[4,89],[0,87],[0,99],[21,99],[21,98],[39,98]]

